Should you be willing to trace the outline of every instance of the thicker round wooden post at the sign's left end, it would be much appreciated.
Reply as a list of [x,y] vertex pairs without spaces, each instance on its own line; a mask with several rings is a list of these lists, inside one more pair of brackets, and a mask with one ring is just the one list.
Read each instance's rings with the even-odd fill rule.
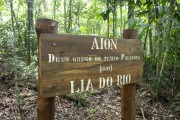
[[[36,21],[36,33],[39,44],[39,37],[42,33],[58,33],[58,22],[51,19],[38,19]],[[39,49],[38,49],[39,53]],[[39,66],[38,66],[39,67]],[[39,70],[38,70],[39,73]],[[38,78],[40,78],[38,74]],[[40,94],[41,81],[38,81],[38,97],[37,97],[37,119],[38,120],[54,120],[55,97],[44,98]]]

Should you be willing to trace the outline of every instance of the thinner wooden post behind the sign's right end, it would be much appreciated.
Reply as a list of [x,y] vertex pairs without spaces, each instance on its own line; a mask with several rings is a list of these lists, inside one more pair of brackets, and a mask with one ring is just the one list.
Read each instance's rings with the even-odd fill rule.
[[[137,39],[137,30],[127,29],[123,31],[124,39]],[[121,95],[121,120],[135,120],[136,104],[135,93],[136,83],[122,86]]]

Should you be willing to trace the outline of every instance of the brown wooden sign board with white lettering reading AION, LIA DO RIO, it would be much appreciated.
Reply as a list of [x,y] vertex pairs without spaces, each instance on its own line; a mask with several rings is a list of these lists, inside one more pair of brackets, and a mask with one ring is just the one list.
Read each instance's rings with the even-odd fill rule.
[[52,97],[141,81],[141,44],[137,39],[42,34],[40,93]]

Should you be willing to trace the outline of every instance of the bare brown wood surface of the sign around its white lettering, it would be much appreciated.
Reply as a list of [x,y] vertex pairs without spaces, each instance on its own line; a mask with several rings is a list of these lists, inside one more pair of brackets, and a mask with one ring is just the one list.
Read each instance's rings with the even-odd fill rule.
[[[91,49],[94,38],[100,44],[97,36],[41,34],[40,36],[40,92],[44,97],[68,94],[71,90],[70,81],[74,81],[74,88],[81,86],[91,79],[93,88],[99,88],[99,78],[113,78],[113,85],[117,84],[117,75],[131,75],[131,83],[142,80],[143,52],[141,41],[137,39],[117,39],[117,49]],[[103,38],[105,39],[105,38]],[[68,57],[68,62],[49,62],[48,54],[56,57]],[[121,60],[121,55],[139,56],[140,60]],[[92,61],[75,62],[74,57],[91,57]],[[101,57],[101,61],[95,61]],[[104,57],[119,57],[119,60],[105,61]],[[100,66],[109,67],[112,71],[100,73]]]

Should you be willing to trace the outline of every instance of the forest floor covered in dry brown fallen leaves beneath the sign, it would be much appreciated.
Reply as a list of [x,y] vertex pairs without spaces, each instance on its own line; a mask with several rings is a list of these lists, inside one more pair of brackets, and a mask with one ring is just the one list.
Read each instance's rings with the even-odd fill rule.
[[[19,82],[18,106],[13,81],[1,82],[0,120],[36,120],[36,86],[37,82]],[[139,83],[136,89],[136,120],[180,120],[180,114],[171,111],[169,103],[154,100],[148,84]],[[120,120],[120,96],[121,88],[112,87],[78,94],[77,99],[56,97],[55,120]]]

